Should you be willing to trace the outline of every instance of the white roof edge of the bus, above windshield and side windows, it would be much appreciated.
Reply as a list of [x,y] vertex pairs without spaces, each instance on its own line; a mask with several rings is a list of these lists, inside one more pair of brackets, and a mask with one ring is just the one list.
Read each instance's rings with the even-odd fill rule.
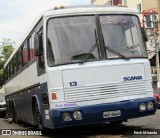
[[17,50],[21,47],[24,41],[27,39],[28,35],[32,32],[33,28],[36,24],[40,21],[42,17],[49,17],[49,16],[67,16],[67,15],[87,15],[87,14],[138,14],[138,10],[134,8],[127,8],[122,6],[103,6],[103,5],[90,5],[90,6],[70,6],[70,7],[61,7],[61,8],[54,8],[48,11],[43,12],[40,14],[33,22],[31,27],[28,29],[27,33],[24,35],[20,43],[17,45],[7,62],[5,63],[4,67],[9,63],[12,59],[14,54]]

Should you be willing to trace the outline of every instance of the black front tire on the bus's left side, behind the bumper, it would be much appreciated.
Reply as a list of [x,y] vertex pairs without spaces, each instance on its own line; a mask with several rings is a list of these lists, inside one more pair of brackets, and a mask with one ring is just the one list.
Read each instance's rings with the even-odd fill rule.
[[40,111],[38,108],[38,104],[37,102],[35,103],[35,122],[36,122],[36,126],[39,130],[43,129],[43,125],[42,125],[42,120],[41,120],[41,115],[40,115]]

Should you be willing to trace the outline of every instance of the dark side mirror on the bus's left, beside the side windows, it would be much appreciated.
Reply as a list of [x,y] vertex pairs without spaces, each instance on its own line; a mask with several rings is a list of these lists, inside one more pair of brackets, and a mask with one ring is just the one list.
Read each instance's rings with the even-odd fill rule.
[[42,56],[43,54],[42,34],[35,34],[34,36],[34,52],[35,56]]

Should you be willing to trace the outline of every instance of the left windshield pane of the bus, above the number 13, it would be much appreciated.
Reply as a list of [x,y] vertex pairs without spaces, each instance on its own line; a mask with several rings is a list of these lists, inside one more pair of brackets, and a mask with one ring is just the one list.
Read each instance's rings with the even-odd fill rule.
[[[52,18],[48,21],[48,65],[82,60],[96,43],[95,16]],[[87,60],[99,59],[96,47]]]

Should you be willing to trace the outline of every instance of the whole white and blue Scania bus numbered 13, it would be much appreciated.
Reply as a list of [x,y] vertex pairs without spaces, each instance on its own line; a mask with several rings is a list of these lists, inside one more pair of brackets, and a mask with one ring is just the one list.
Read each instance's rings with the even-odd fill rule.
[[8,116],[53,129],[155,114],[143,38],[135,9],[46,11],[4,66]]

